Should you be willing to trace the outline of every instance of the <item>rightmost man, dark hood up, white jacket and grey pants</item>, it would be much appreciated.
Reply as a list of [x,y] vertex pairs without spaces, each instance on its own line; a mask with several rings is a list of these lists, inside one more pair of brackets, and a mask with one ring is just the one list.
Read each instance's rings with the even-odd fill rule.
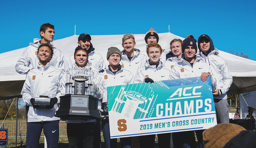
[[229,123],[229,104],[226,92],[233,82],[232,75],[225,60],[215,55],[219,51],[214,48],[212,39],[208,35],[199,36],[198,42],[200,56],[210,66],[213,76],[216,78],[216,90],[213,91],[213,99],[217,123]]

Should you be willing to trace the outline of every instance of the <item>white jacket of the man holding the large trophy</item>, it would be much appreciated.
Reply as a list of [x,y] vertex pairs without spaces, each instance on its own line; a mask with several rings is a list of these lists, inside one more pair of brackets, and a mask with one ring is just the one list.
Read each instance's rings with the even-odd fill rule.
[[[77,67],[76,65],[74,67]],[[92,63],[90,61],[87,61],[87,65],[85,67],[85,69],[87,70],[93,70],[92,69]],[[98,71],[93,70],[94,72],[94,77],[93,77],[93,81],[94,83],[97,85],[98,87],[98,91],[97,93],[94,93],[94,97],[98,98],[98,109],[101,108],[101,102],[102,102],[102,97],[103,97],[103,86],[102,86],[102,78],[99,74]],[[66,74],[65,74],[66,77]],[[65,87],[66,85],[66,78],[63,77],[62,78],[62,87]],[[75,85],[75,82],[73,83],[73,85]],[[65,89],[64,89],[65,90]],[[67,120],[66,123],[81,123],[81,122],[96,122],[95,119],[88,119],[88,120]]]

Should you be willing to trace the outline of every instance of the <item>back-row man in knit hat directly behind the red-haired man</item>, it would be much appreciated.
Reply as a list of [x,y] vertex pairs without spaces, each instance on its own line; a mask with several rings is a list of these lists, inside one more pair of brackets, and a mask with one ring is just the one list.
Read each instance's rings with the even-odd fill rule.
[[[145,35],[144,39],[145,39],[145,42],[146,42],[147,45],[146,45],[146,49],[141,51],[141,54],[144,54],[147,57],[148,55],[147,55],[146,50],[147,50],[148,44],[150,44],[150,43],[158,43],[159,36],[158,36],[158,33],[156,32],[156,30],[154,30],[154,28],[150,28],[150,30],[148,30],[146,32],[146,35]],[[164,49],[163,49],[163,52],[161,54],[160,60],[162,62],[166,61],[166,54],[164,53]]]

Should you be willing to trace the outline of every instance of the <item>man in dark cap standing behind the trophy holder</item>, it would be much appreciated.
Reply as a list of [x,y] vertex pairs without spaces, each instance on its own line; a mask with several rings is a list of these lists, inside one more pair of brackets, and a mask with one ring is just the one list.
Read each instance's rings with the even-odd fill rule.
[[[95,53],[95,48],[93,48],[93,44],[91,43],[91,35],[87,33],[82,33],[78,37],[78,46],[84,47],[88,51],[88,60],[92,63],[92,68],[96,71],[102,70],[106,68],[105,62],[102,58],[102,55]],[[71,56],[69,58],[68,67],[71,68],[75,66],[74,57]]]

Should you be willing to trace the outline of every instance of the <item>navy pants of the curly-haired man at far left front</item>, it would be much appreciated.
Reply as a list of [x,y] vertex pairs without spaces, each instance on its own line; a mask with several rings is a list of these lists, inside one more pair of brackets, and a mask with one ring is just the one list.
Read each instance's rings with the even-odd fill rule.
[[40,135],[44,129],[47,148],[58,148],[59,122],[28,122],[26,129],[26,148],[38,148]]

